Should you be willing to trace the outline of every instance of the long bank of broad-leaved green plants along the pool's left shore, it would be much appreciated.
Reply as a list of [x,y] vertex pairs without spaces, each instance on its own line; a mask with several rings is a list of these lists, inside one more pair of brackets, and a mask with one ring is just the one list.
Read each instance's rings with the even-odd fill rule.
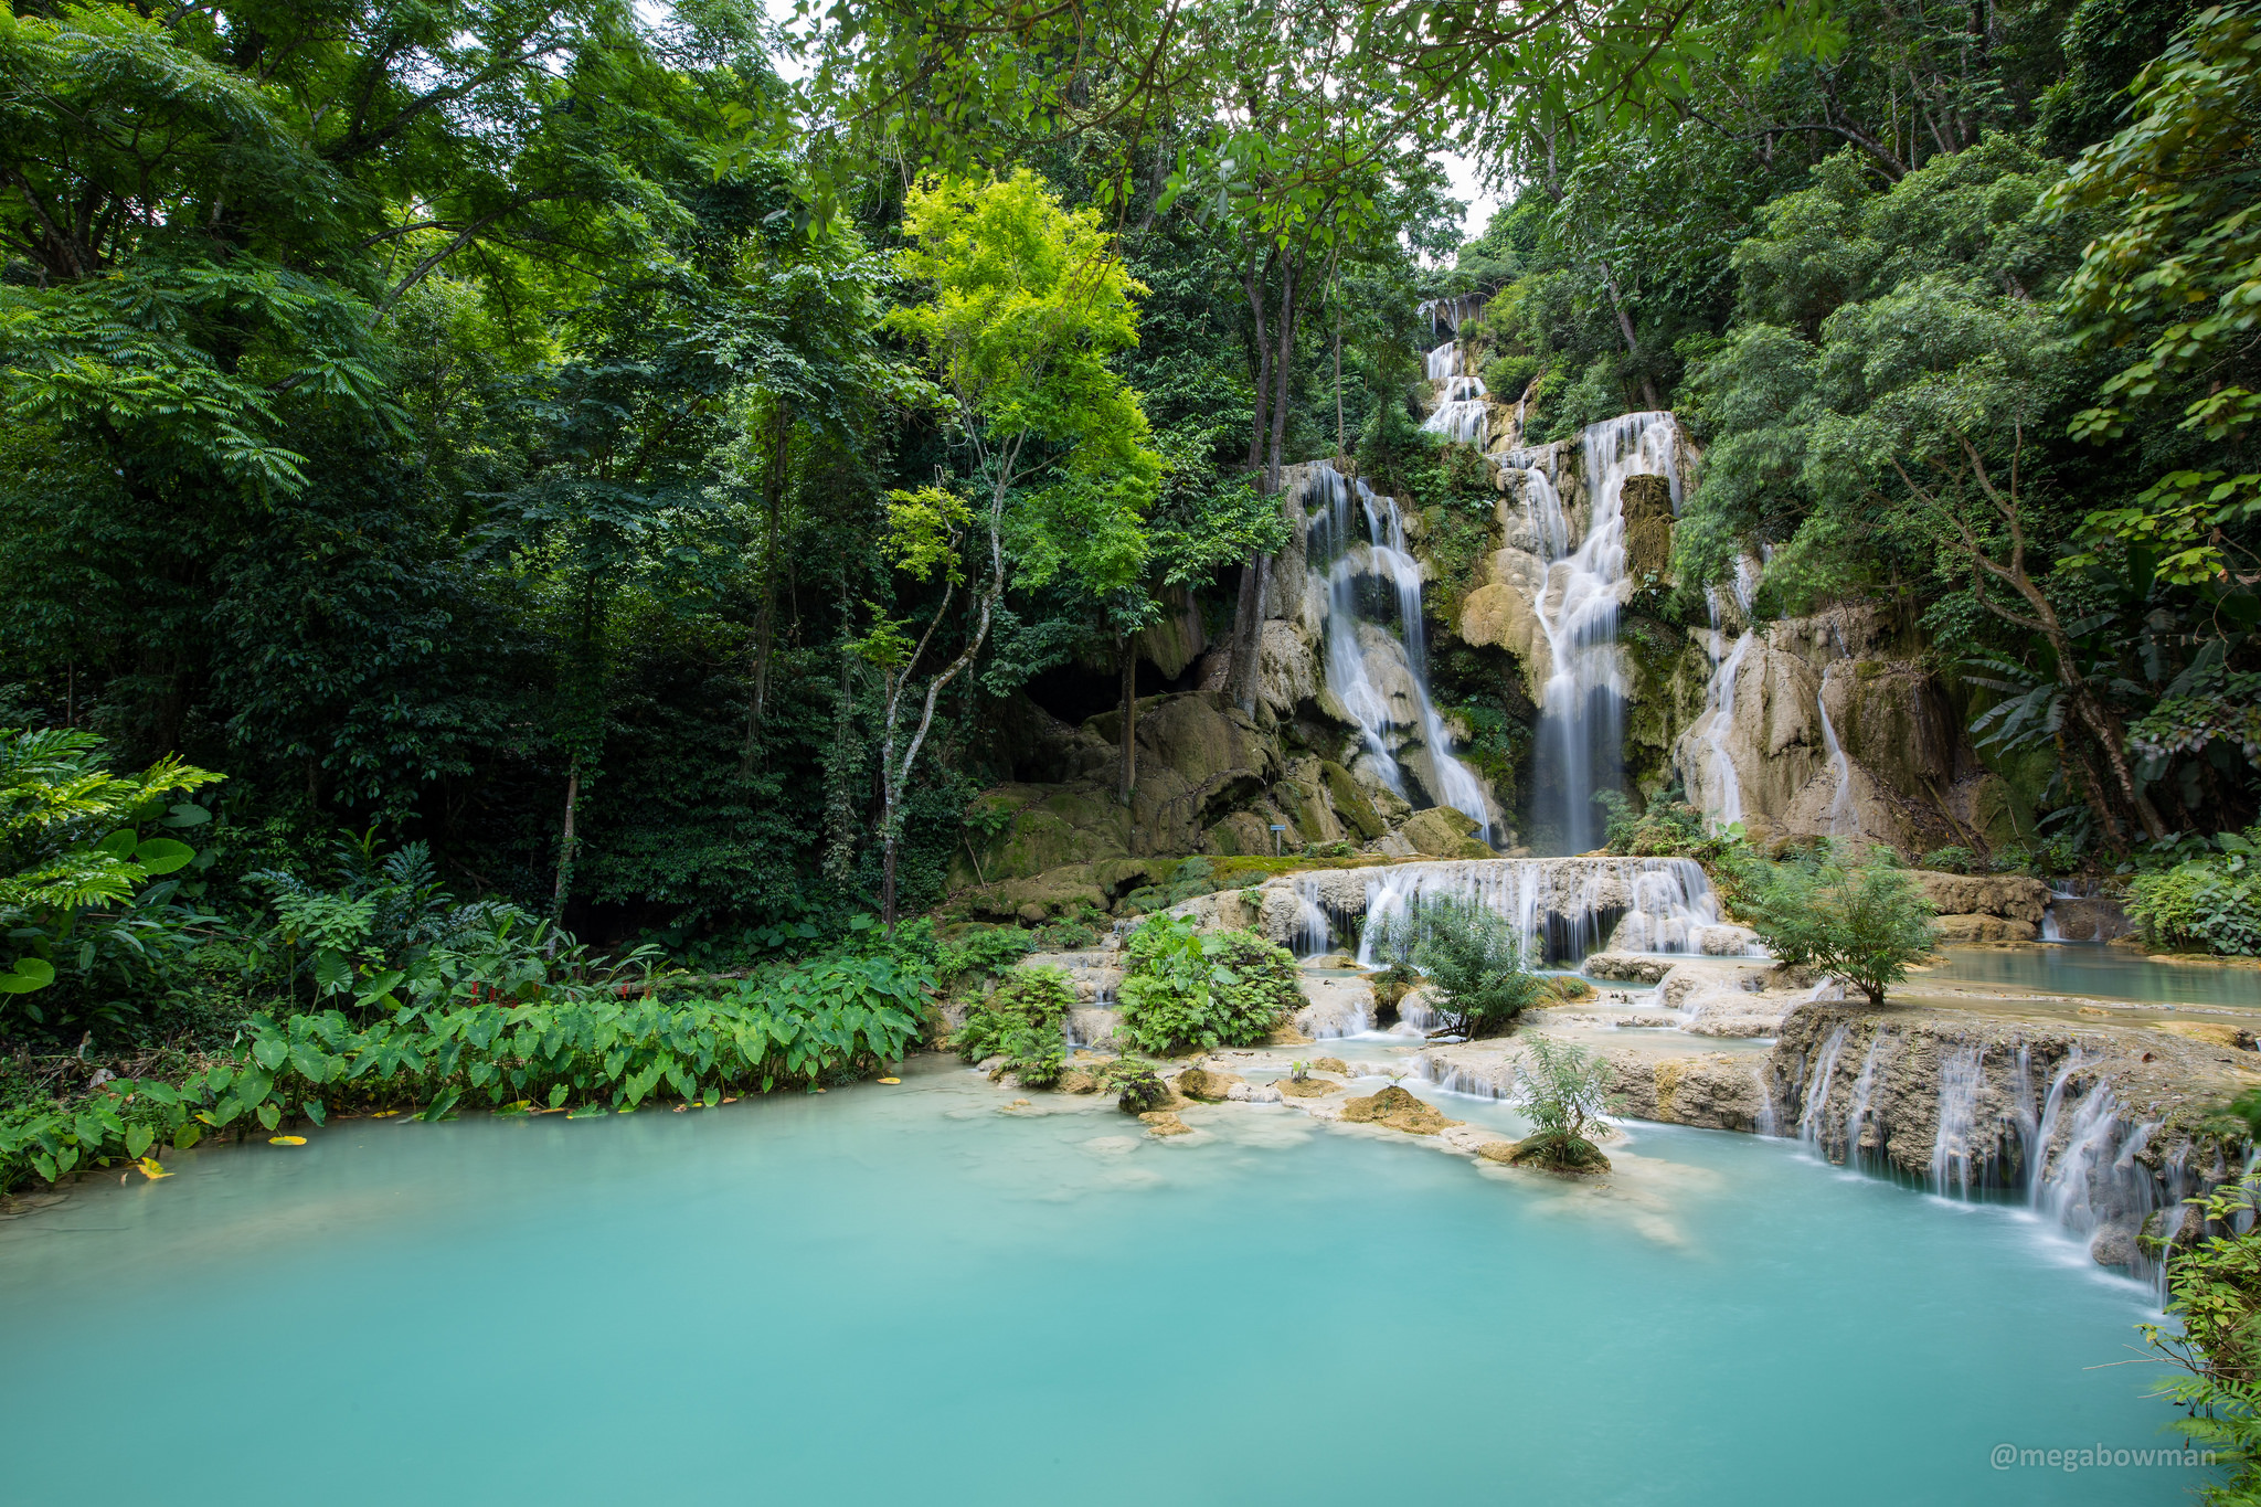
[[[816,1087],[902,1057],[932,974],[886,956],[814,958],[714,999],[554,994],[518,1005],[402,1008],[373,1023],[341,1010],[253,1017],[249,1042],[179,1082],[109,1080],[72,1105],[0,1116],[0,1191],[77,1168],[194,1146],[206,1132],[321,1125],[344,1107],[464,1100],[500,1114],[620,1112],[647,1098],[714,1105],[780,1084]],[[154,1166],[154,1164],[151,1164]]]

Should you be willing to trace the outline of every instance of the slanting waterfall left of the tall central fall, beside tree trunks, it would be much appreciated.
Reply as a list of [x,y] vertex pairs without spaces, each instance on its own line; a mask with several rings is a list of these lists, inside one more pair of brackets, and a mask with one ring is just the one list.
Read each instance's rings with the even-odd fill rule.
[[[1490,840],[1490,798],[1476,773],[1454,757],[1445,718],[1429,698],[1420,563],[1406,554],[1397,502],[1325,461],[1311,468],[1307,497],[1309,560],[1314,574],[1325,569],[1327,689],[1359,725],[1375,773],[1391,791],[1415,807],[1465,811]],[[1406,761],[1415,764],[1413,779]]]

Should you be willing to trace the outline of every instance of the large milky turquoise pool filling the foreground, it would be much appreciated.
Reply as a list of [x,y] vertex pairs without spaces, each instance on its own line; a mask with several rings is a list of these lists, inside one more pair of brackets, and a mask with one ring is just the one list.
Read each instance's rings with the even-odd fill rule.
[[[1433,1096],[1433,1094],[1431,1094]],[[2143,1288],[1635,1127],[1599,1186],[954,1064],[346,1121],[0,1225],[7,1502],[2180,1502]],[[1440,1098],[1472,1121],[1492,1105]],[[2107,1367],[2107,1369],[2094,1369]]]

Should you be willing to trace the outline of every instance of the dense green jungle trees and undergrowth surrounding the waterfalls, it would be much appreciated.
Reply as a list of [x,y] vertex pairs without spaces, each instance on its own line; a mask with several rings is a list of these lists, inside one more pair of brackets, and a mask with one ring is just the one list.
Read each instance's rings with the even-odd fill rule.
[[[2177,0],[18,0],[7,1100],[115,1155],[884,1060],[1011,960],[909,917],[1031,718],[1135,714],[1187,601],[1248,696],[1287,463],[1474,549],[1436,296],[1533,436],[1682,413],[1641,615],[1743,554],[1761,615],[1888,603],[2021,861],[2250,938],[2256,50]],[[1445,145],[1506,197],[1467,244]],[[1513,789],[1513,676],[1436,678]]]

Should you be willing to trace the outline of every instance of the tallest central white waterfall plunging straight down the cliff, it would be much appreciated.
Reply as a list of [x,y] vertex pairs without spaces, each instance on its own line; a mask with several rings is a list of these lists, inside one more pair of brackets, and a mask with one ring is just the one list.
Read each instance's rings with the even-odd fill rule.
[[1580,436],[1587,497],[1585,535],[1567,549],[1569,517],[1558,479],[1542,474],[1533,452],[1508,465],[1526,477],[1526,504],[1540,522],[1547,551],[1547,590],[1540,630],[1547,635],[1549,673],[1540,698],[1537,777],[1533,811],[1553,829],[1560,852],[1601,845],[1596,791],[1623,784],[1626,671],[1617,655],[1617,608],[1626,585],[1626,479],[1666,477],[1680,508],[1678,427],[1671,413],[1621,413],[1587,425]]

